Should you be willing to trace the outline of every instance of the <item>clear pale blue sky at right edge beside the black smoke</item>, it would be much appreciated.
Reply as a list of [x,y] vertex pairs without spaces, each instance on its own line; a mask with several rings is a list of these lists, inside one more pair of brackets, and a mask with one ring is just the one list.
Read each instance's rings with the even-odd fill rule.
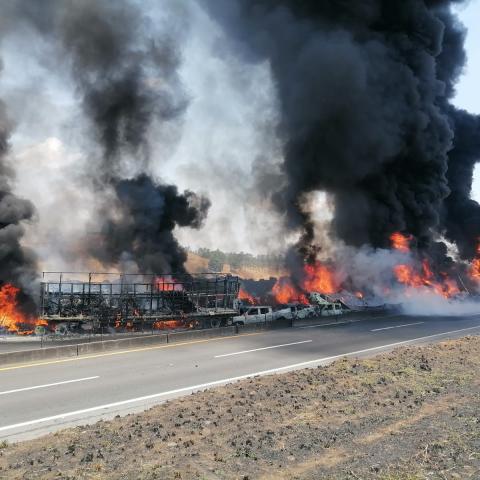
[[[457,85],[457,96],[454,103],[472,113],[480,114],[480,0],[471,0],[457,9],[458,16],[467,27],[467,66]],[[480,168],[475,170],[472,197],[480,202]]]

